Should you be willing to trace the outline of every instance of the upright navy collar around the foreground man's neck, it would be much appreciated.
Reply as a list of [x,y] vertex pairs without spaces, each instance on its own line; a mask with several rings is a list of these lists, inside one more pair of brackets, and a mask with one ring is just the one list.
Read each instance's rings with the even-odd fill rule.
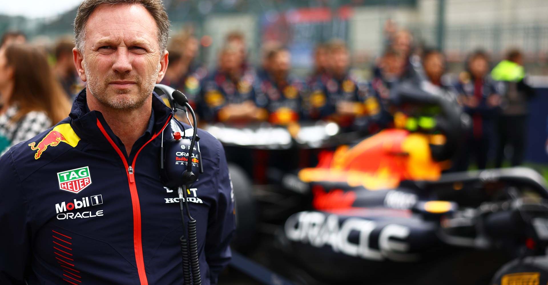
[[[153,134],[160,132],[166,121],[170,118],[171,113],[172,110],[165,106],[162,99],[153,92],[152,115],[144,135],[150,137]],[[72,129],[80,138],[91,143],[109,144],[97,126],[97,121],[99,120],[113,141],[121,147],[121,141],[114,135],[101,112],[89,110],[85,88],[76,96],[72,104],[69,118]]]

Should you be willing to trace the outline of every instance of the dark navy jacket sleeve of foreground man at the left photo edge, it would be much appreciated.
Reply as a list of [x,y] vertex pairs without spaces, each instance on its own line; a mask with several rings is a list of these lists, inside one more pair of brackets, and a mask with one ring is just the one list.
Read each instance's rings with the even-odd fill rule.
[[30,218],[12,151],[0,158],[0,284],[25,284],[30,263]]

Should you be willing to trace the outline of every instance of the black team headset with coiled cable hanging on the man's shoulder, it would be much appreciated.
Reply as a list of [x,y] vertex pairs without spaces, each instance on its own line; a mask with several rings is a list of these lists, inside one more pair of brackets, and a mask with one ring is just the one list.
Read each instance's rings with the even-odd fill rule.
[[[165,95],[172,109],[172,130],[164,138],[162,131],[162,144],[160,147],[160,172],[162,182],[169,189],[177,189],[179,194],[179,207],[183,234],[179,241],[181,243],[182,272],[185,284],[201,285],[200,267],[198,262],[198,242],[196,233],[196,220],[190,215],[187,201],[187,189],[198,180],[198,174],[203,173],[202,155],[199,148],[198,127],[194,110],[189,100],[179,90],[167,85],[156,84],[154,91],[158,95]],[[184,112],[189,125],[192,125],[192,135],[188,136],[185,127],[178,119],[175,119],[176,112]],[[192,115],[190,123],[189,113]],[[190,131],[190,130],[189,130]],[[195,154],[197,151],[197,154]],[[183,189],[184,187],[184,189]],[[187,237],[185,237],[185,213],[189,218]]]

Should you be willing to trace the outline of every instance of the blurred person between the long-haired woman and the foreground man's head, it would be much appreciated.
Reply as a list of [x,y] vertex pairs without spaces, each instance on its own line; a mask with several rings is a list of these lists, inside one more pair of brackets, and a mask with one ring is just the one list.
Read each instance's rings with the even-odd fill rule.
[[84,87],[78,78],[74,62],[72,61],[72,40],[62,39],[55,45],[55,75],[59,79],[65,93],[72,98]]

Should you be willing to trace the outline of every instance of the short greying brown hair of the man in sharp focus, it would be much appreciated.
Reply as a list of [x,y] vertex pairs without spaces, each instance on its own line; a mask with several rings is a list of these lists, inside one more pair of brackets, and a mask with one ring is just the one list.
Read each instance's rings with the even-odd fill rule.
[[74,36],[76,48],[80,51],[84,48],[85,25],[89,16],[100,5],[138,4],[145,7],[158,27],[158,44],[162,51],[167,48],[169,38],[169,18],[162,0],[84,0],[78,7],[74,19]]

